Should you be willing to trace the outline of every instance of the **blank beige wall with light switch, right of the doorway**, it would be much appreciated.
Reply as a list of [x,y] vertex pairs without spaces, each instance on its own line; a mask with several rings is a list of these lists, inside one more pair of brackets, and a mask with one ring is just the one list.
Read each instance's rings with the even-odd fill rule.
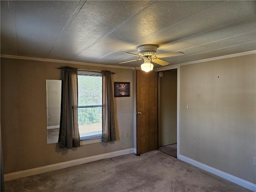
[[180,154],[256,184],[256,55],[181,66],[179,107]]

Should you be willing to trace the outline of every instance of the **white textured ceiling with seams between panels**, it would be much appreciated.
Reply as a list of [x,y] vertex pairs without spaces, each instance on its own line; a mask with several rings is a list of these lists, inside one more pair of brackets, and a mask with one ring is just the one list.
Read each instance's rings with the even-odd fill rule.
[[184,52],[174,65],[256,50],[256,1],[1,0],[0,19],[1,55],[138,67],[120,51]]

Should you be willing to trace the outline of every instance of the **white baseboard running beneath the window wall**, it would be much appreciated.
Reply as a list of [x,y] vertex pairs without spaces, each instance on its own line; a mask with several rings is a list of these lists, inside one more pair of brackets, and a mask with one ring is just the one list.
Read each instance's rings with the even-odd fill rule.
[[93,162],[93,161],[97,161],[97,160],[101,160],[101,159],[113,158],[116,156],[126,155],[126,154],[131,154],[131,153],[134,153],[134,148],[100,154],[100,155],[95,155],[95,156],[81,158],[81,159],[76,159],[76,160],[63,162],[63,163],[47,165],[47,166],[28,169],[28,170],[24,170],[24,171],[18,171],[18,172],[14,172],[14,173],[8,173],[8,174],[4,174],[4,180],[5,181],[14,180],[14,179],[22,178],[22,177],[28,177],[28,176],[32,176],[32,175],[36,175],[36,174],[40,174],[40,173],[55,171],[55,170],[59,170],[59,169],[67,168],[67,167],[72,167],[72,166],[81,165],[81,164],[85,164],[85,163],[89,163],[89,162]]

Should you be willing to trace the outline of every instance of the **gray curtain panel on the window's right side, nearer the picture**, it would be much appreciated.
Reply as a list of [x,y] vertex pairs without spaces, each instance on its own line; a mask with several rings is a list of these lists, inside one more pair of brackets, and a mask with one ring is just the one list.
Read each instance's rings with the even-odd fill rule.
[[116,140],[111,74],[102,71],[102,142]]

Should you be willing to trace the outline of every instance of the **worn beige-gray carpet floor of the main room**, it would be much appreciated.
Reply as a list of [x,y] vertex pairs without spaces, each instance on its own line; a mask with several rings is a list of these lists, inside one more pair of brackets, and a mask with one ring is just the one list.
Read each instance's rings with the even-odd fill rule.
[[154,150],[5,182],[6,192],[251,192]]

